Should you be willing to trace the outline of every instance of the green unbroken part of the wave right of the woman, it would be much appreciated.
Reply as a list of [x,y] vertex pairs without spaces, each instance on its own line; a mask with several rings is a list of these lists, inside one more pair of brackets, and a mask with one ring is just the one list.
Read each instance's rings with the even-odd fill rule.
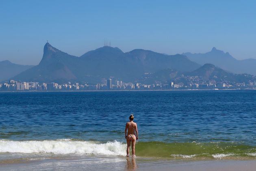
[[173,159],[256,159],[256,147],[234,142],[164,143],[139,142],[136,155]]

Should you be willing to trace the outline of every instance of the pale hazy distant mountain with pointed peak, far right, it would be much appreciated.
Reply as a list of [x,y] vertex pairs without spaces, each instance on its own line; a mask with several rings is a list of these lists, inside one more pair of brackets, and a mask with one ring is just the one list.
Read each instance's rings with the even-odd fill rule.
[[232,73],[248,73],[256,75],[256,59],[236,60],[228,52],[224,53],[221,50],[213,49],[207,53],[182,53],[191,61],[198,64],[214,64],[226,71]]

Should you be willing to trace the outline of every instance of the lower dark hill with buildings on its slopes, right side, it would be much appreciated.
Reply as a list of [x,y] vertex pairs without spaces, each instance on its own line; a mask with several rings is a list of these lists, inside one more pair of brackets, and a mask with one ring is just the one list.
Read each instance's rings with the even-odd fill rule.
[[140,83],[155,84],[163,83],[170,84],[170,81],[175,83],[208,83],[214,81],[215,83],[249,83],[254,82],[256,77],[249,74],[233,74],[223,69],[214,66],[213,64],[204,64],[191,72],[176,71],[173,69],[164,69],[152,74],[145,74]]

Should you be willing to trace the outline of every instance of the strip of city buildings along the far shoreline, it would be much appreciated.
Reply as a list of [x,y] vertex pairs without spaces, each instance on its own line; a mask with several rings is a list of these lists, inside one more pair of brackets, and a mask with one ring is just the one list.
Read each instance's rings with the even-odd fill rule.
[[106,83],[95,85],[88,83],[68,82],[68,83],[39,83],[39,82],[19,82],[10,80],[0,84],[0,91],[106,91],[106,90],[242,90],[256,89],[256,81],[249,83],[216,83],[208,81],[204,83],[191,82],[187,85],[184,83],[171,82],[169,84],[141,84],[141,83],[124,83],[123,81],[113,81],[107,79]]

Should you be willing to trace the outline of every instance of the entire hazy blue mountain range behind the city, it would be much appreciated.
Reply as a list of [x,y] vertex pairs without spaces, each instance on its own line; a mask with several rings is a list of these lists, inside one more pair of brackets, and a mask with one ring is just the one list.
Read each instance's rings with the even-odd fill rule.
[[181,78],[181,75],[197,75],[205,81],[215,79],[232,82],[252,79],[252,75],[233,73],[256,75],[255,66],[254,59],[236,60],[215,47],[207,53],[166,55],[143,49],[124,53],[117,47],[104,46],[77,57],[46,43],[43,58],[37,66],[0,62],[0,81],[12,78],[17,81],[85,81],[94,84],[112,77],[127,82],[166,83]]

